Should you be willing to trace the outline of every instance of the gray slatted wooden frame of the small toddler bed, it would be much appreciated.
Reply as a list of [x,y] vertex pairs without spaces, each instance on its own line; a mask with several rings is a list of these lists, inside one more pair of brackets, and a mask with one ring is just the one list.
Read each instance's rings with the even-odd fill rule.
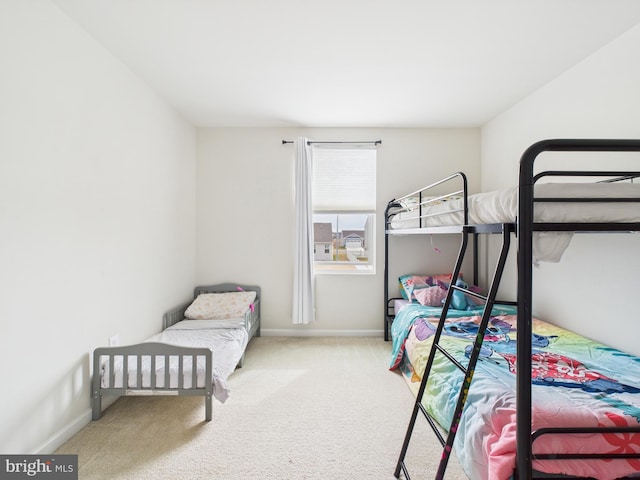
[[[225,293],[235,292],[240,287],[245,291],[256,292],[256,299],[254,301],[253,310],[247,311],[244,316],[245,328],[249,334],[249,340],[253,337],[260,336],[260,287],[255,285],[243,285],[239,283],[222,283],[217,285],[200,286],[194,289],[193,298],[195,299],[201,293]],[[186,302],[176,308],[173,308],[163,315],[163,328],[166,329],[171,325],[184,320],[184,312],[193,300]],[[163,387],[156,385],[156,376],[151,375],[151,384],[147,387],[142,387],[142,370],[137,369],[137,382],[135,387],[126,386],[126,381],[123,381],[123,387],[115,388],[115,368],[114,364],[116,358],[119,358],[123,362],[123,372],[128,371],[128,363],[131,357],[135,357],[136,365],[142,365],[142,358],[148,357],[151,359],[151,370],[155,368],[155,363],[158,358],[164,358],[164,364],[168,365],[169,357],[178,357],[179,359],[179,371],[178,371],[178,386],[177,388],[170,388],[169,386],[169,369],[165,369],[165,378]],[[206,363],[205,367],[205,385],[203,387],[197,387],[196,369],[192,369],[191,385],[195,385],[196,388],[184,388],[183,387],[183,365],[184,359],[190,358],[190,365],[195,365],[198,358],[204,358]],[[102,365],[105,362],[109,364],[109,382],[108,387],[102,386]],[[244,362],[244,352],[241,360],[238,362],[238,367],[242,367]],[[128,345],[121,347],[102,347],[97,348],[93,352],[93,380],[92,380],[92,418],[93,420],[100,419],[102,415],[102,397],[103,396],[127,396],[127,395],[182,395],[182,396],[202,396],[205,403],[205,419],[210,421],[213,412],[213,351],[210,348],[195,348],[195,347],[180,347],[176,345],[168,345],[165,343],[155,342],[143,342],[136,345]]]

